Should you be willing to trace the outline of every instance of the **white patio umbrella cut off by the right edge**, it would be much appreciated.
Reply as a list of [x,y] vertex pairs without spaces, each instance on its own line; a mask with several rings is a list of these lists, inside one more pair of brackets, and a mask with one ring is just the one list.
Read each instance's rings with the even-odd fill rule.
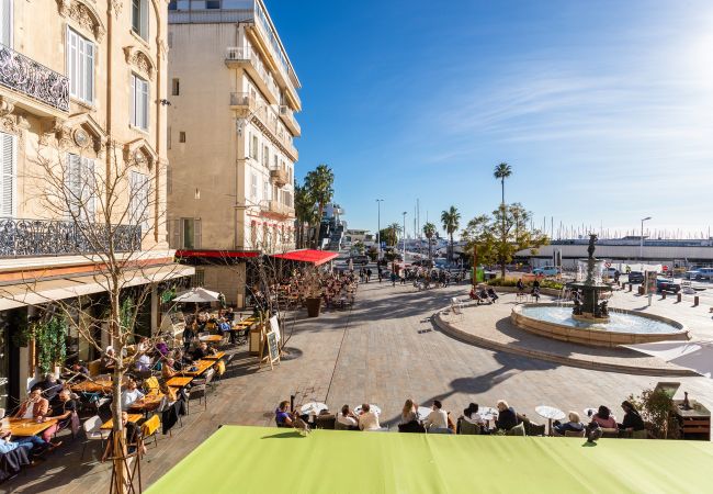
[[656,341],[622,347],[658,357],[667,362],[692,370],[705,378],[713,374],[713,341]]

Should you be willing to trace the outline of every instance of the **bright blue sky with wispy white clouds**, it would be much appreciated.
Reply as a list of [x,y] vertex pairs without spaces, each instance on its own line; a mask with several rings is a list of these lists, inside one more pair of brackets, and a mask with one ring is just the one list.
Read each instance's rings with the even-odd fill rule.
[[[303,88],[296,177],[336,176],[349,227],[461,226],[506,201],[535,226],[708,235],[713,2],[265,0]],[[551,228],[554,225],[554,228]]]

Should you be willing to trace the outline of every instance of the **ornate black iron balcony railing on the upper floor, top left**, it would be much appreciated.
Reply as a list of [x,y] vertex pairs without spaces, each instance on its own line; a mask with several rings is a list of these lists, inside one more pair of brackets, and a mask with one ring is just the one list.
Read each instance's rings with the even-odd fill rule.
[[1,44],[0,85],[69,112],[69,78]]

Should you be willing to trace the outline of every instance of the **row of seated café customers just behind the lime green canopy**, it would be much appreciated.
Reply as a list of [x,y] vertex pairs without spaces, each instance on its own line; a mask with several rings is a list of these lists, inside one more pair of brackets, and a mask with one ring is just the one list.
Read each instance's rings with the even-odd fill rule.
[[[428,413],[419,407],[414,400],[406,400],[397,420],[399,433],[429,433],[429,434],[483,434],[483,435],[509,435],[522,425],[522,434],[527,430],[540,430],[544,434],[544,426],[539,426],[530,420],[524,414],[519,414],[505,400],[499,400],[496,408],[486,408],[485,412],[476,403],[471,403],[463,413],[454,418],[454,415],[443,407],[440,400],[430,403]],[[644,420],[636,407],[629,401],[621,404],[623,418],[618,422],[614,414],[604,405],[596,412],[591,411],[587,424],[585,424],[577,412],[569,412],[566,422],[555,420],[551,434],[554,436],[566,436],[567,433],[578,433],[596,440],[601,437],[602,431],[609,433],[637,433],[645,430]],[[283,401],[275,409],[275,424],[278,427],[303,428],[306,424],[317,424],[317,417],[324,422],[326,418],[333,418],[333,428],[342,430],[389,430],[383,427],[380,413],[373,409],[373,405],[364,403],[358,412],[343,405],[337,414],[328,409],[321,409],[318,416],[302,414],[298,409],[290,409],[290,402]],[[464,433],[465,424],[475,426],[468,430],[476,433]],[[525,427],[527,425],[527,427]],[[540,428],[539,428],[540,427]],[[332,428],[332,427],[328,427]],[[531,433],[528,433],[530,435]],[[536,433],[535,433],[536,434]]]

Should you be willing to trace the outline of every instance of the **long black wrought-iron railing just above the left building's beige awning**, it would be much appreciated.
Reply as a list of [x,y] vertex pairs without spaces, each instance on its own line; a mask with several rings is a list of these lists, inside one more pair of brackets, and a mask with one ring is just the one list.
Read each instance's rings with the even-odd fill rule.
[[[113,237],[113,238],[111,238]],[[102,254],[142,248],[142,227],[72,221],[0,218],[0,258]]]

